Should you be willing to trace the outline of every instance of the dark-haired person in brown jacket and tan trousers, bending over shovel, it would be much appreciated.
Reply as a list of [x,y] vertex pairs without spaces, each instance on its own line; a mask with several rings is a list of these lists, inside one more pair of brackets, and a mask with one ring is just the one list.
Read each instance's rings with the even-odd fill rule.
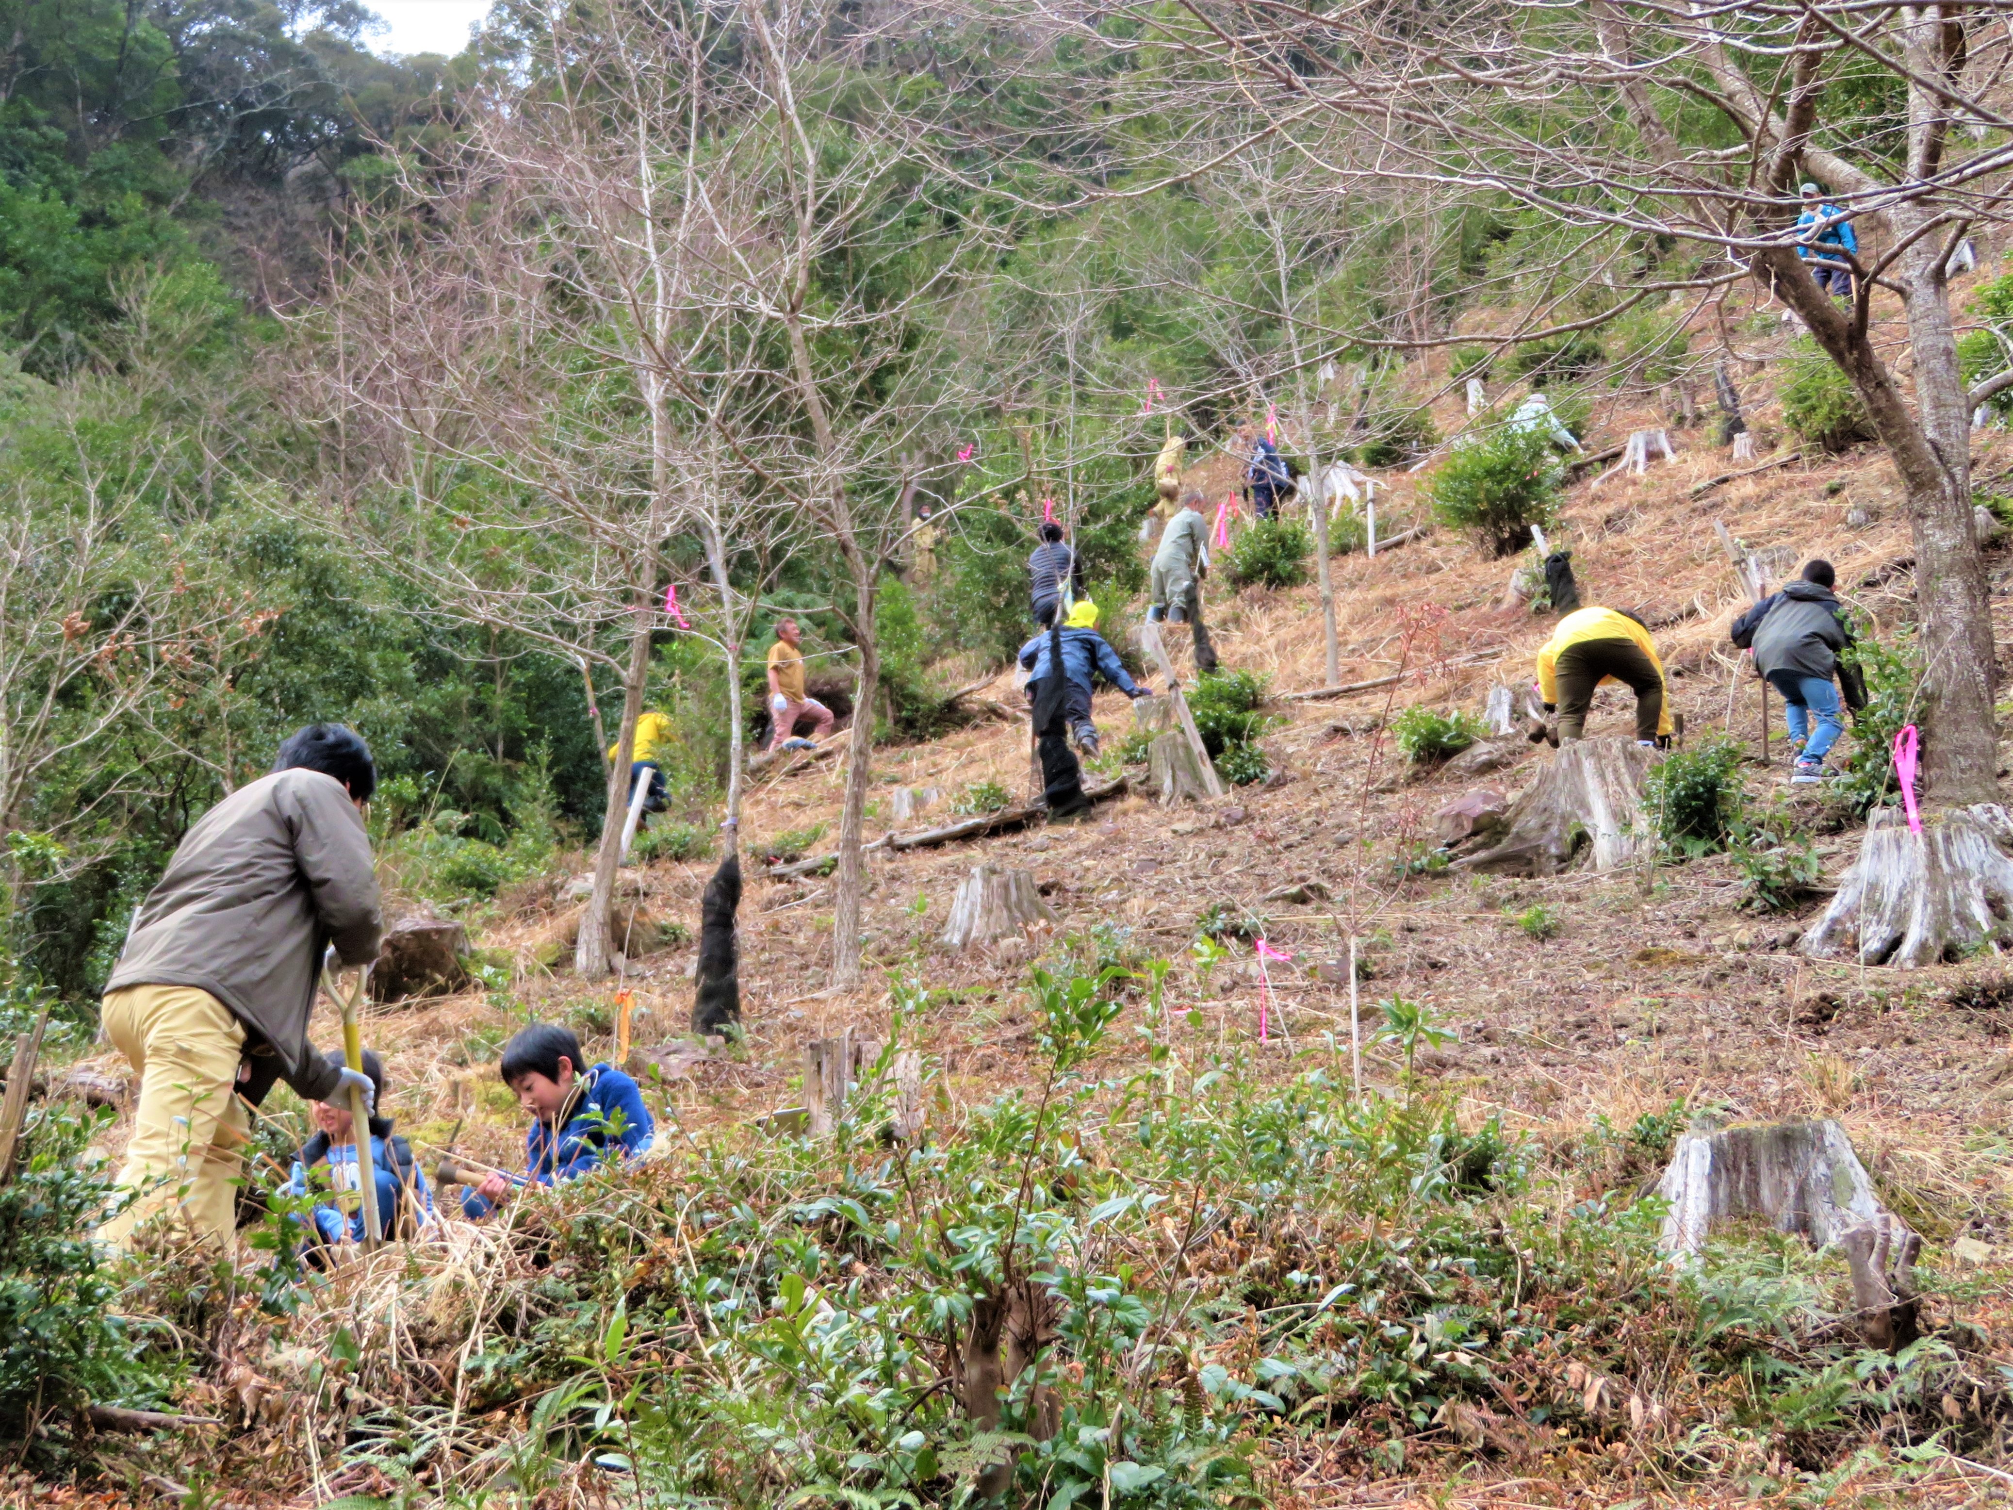
[[340,1101],[368,1077],[308,1043],[328,948],[376,958],[382,916],[362,809],[370,749],[318,723],[284,745],[272,775],[211,807],[175,846],[105,983],[105,1037],[139,1071],[121,1190],[135,1192],[99,1238],[129,1246],[163,1212],[229,1242],[246,1103],[284,1079],[308,1101]]

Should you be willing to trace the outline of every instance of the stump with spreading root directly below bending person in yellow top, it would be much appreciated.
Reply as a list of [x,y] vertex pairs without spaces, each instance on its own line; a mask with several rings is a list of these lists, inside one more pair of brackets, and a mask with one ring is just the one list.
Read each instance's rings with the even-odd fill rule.
[[1629,864],[1643,815],[1643,777],[1657,751],[1633,739],[1580,739],[1532,777],[1504,815],[1504,834],[1482,854],[1455,860],[1496,876],[1556,876],[1590,850],[1594,870]]

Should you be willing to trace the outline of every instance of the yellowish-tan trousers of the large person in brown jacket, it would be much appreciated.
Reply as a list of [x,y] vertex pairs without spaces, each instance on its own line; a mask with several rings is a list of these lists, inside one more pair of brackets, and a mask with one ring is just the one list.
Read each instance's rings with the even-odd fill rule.
[[244,1025],[195,987],[123,987],[105,997],[105,1037],[139,1071],[133,1142],[119,1170],[141,1196],[99,1228],[129,1246],[133,1228],[163,1212],[197,1236],[229,1244],[238,1178],[252,1121],[234,1095]]

